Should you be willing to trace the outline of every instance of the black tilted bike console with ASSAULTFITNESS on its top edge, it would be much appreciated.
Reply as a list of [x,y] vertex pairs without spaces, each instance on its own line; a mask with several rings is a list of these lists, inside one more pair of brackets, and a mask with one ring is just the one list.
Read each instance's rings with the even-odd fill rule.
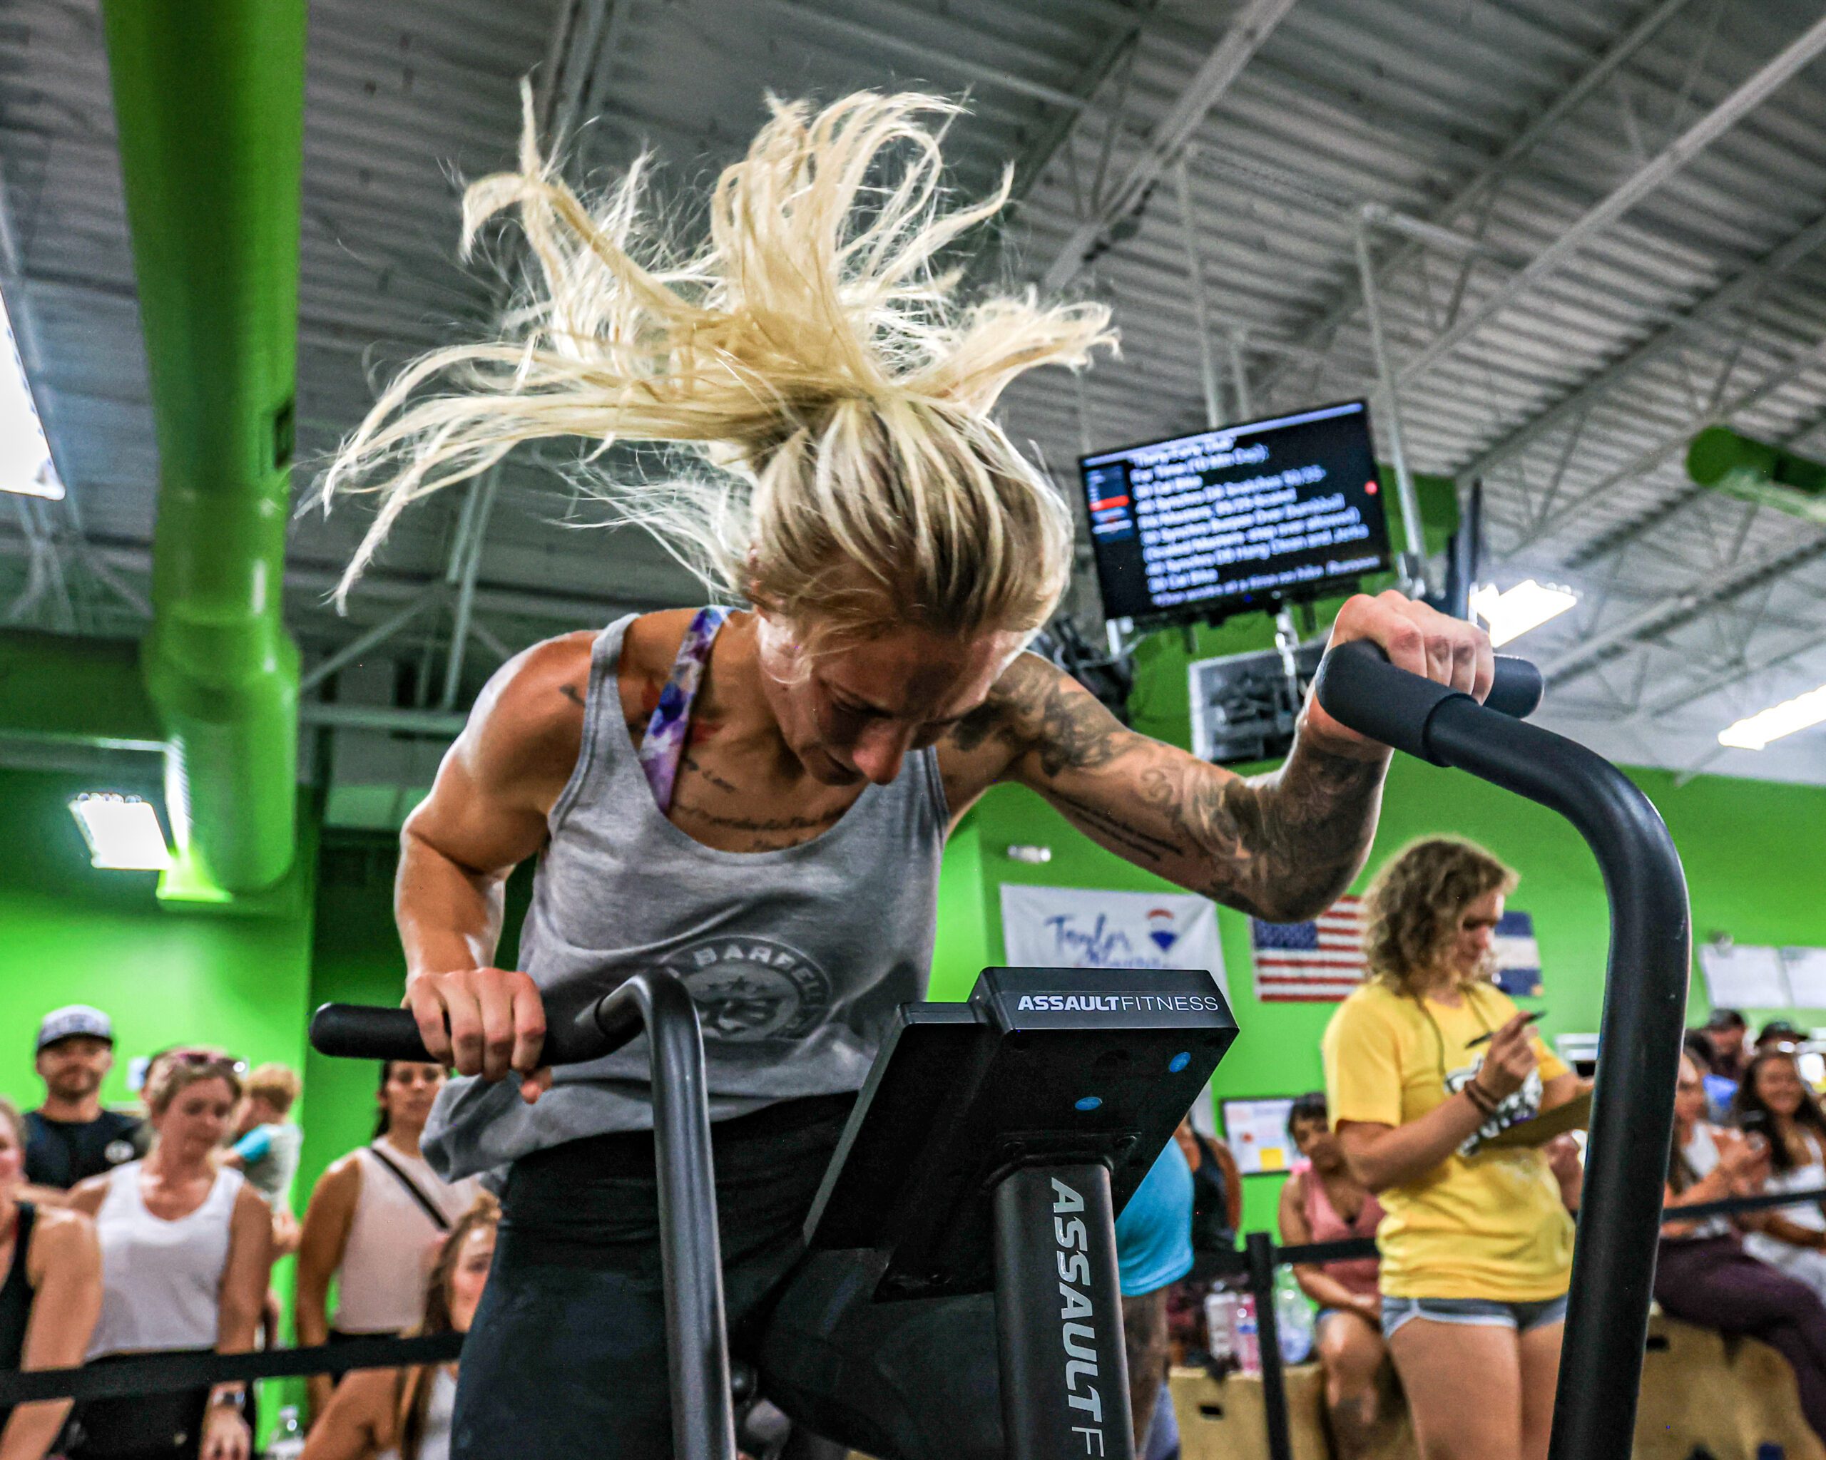
[[984,969],[968,1004],[906,1004],[805,1241],[882,1254],[882,1299],[993,1288],[995,1184],[1103,1164],[1121,1212],[1234,1038],[1203,969]]

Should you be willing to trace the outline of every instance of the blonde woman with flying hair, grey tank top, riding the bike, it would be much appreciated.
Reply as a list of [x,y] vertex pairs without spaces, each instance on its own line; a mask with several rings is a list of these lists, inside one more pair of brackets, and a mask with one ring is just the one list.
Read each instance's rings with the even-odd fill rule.
[[[380,500],[352,580],[413,500],[575,436],[624,520],[747,604],[519,655],[405,827],[407,1002],[466,1077],[425,1148],[451,1177],[511,1163],[460,1460],[670,1451],[645,1055],[553,1077],[548,1013],[634,969],[683,975],[738,1350],[782,1409],[882,1460],[1001,1455],[986,1299],[876,1307],[842,1261],[800,1265],[855,1093],[924,993],[948,829],[1019,781],[1118,854],[1276,918],[1329,903],[1370,845],[1386,752],[1317,706],[1287,765],[1242,781],[1023,653],[1066,586],[1072,526],[992,411],[1110,334],[1099,305],[953,299],[953,245],[1006,199],[939,188],[953,110],[776,102],[718,179],[708,235],[670,246],[639,170],[586,203],[528,131],[520,170],[466,210],[471,237],[520,212],[540,277],[517,332],[411,367],[327,476],[327,495]],[[601,480],[612,442],[666,447],[672,484]],[[1490,681],[1475,630],[1399,595],[1351,600],[1337,637]],[[502,883],[535,856],[520,967],[500,969]]]

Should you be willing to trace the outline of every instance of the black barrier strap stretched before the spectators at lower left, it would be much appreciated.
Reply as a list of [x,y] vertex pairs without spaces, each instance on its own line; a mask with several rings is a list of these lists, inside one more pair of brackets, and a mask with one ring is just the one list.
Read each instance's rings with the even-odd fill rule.
[[462,1352],[462,1334],[425,1338],[351,1338],[310,1349],[267,1349],[256,1354],[168,1352],[135,1354],[82,1369],[33,1369],[0,1374],[0,1405],[33,1400],[121,1400],[247,1383],[292,1374],[343,1374],[351,1369],[404,1369],[413,1363],[451,1363]]

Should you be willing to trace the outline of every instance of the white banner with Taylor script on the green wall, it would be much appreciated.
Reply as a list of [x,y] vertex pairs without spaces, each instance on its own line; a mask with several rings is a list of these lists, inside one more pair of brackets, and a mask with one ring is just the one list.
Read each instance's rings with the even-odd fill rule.
[[1002,951],[1012,967],[1211,969],[1229,996],[1218,909],[1189,892],[1105,892],[1004,881]]

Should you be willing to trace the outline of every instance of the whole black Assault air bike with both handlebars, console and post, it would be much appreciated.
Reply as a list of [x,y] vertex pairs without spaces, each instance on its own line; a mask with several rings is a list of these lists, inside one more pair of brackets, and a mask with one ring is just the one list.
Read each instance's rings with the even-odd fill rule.
[[[1680,858],[1616,766],[1523,723],[1541,699],[1532,664],[1499,659],[1477,704],[1355,642],[1326,657],[1317,694],[1366,735],[1558,810],[1598,858],[1611,900],[1603,1064],[1550,1456],[1629,1455],[1687,991]],[[674,1451],[732,1460],[696,1007],[654,971],[548,1018],[548,1064],[648,1037]],[[805,1241],[871,1263],[882,1303],[995,1292],[1010,1460],[1134,1460],[1114,1217],[1234,1038],[1196,969],[984,969],[966,1004],[906,1004],[889,1027]],[[404,1009],[327,1004],[310,1042],[429,1058]]]

